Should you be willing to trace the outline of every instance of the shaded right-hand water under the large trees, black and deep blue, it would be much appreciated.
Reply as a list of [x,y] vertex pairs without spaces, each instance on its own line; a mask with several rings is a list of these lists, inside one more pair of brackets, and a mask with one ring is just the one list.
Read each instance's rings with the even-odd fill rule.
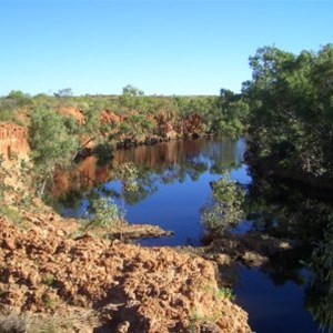
[[[250,324],[256,332],[330,332],[333,329],[332,198],[327,193],[325,199],[319,198],[311,190],[255,173],[252,180],[248,196],[252,228],[276,238],[301,240],[303,246],[276,255],[262,270],[240,268],[239,303],[252,314]],[[259,304],[264,306],[260,309]]]

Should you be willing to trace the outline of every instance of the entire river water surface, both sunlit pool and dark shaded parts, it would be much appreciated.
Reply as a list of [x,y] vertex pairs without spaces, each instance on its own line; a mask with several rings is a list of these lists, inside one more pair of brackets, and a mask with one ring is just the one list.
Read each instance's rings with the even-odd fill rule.
[[[246,221],[238,233],[259,231],[305,242],[301,250],[273,258],[261,269],[238,269],[236,302],[258,333],[321,332],[333,323],[333,228],[331,199],[281,181],[261,179],[242,162],[245,142],[199,139],[119,150],[101,165],[84,160],[69,174],[58,174],[53,196],[59,211],[80,218],[99,189],[124,196],[127,219],[173,230],[174,236],[142,240],[147,246],[200,245],[202,208],[211,201],[210,183],[223,170],[248,189]],[[124,162],[139,169],[139,191],[122,193],[113,179]],[[322,332],[329,332],[323,330]]]

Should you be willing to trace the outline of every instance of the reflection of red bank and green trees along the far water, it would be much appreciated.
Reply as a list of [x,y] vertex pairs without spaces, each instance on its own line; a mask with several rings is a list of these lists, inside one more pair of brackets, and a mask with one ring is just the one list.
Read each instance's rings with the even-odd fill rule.
[[135,204],[154,193],[159,183],[182,183],[188,178],[198,181],[208,170],[211,173],[221,173],[222,170],[239,167],[242,153],[240,154],[238,145],[233,141],[199,139],[118,150],[109,164],[99,164],[91,157],[82,161],[73,172],[57,175],[53,193],[62,205],[79,206],[80,200],[89,199],[89,192],[94,188],[102,188],[114,180],[117,168],[132,162],[139,170],[138,191],[120,193],[119,190],[110,190],[108,186],[104,191],[111,191],[109,194],[115,198],[123,195],[127,203]]

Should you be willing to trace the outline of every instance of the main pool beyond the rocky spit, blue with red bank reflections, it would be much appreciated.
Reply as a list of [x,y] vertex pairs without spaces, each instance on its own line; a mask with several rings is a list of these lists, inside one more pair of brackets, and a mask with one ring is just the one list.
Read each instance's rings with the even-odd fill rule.
[[[83,161],[73,174],[62,174],[58,182],[61,185],[53,192],[64,215],[82,216],[89,206],[89,192],[102,184],[101,191],[124,196],[130,222],[159,224],[175,232],[172,238],[143,240],[142,244],[198,245],[201,208],[211,198],[210,182],[218,180],[222,170],[231,171],[242,183],[250,182],[241,164],[244,150],[243,140],[205,139],[118,150],[109,165]],[[114,169],[124,162],[133,162],[139,169],[139,190],[134,193],[122,193],[119,181],[112,179]]]

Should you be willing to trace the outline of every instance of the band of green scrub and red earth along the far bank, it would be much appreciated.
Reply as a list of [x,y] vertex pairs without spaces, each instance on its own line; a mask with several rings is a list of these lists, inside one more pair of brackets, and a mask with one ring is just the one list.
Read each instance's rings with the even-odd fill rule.
[[[165,133],[171,130],[180,137],[209,133],[238,138],[245,130],[246,122],[246,104],[240,94],[221,92],[220,97],[148,97],[133,85],[124,87],[120,97],[74,97],[70,88],[60,89],[54,95],[40,93],[30,97],[21,91],[12,91],[8,97],[0,98],[0,121],[23,122],[33,128],[38,114],[46,110],[57,113],[63,107],[80,110],[84,115],[84,122],[80,125],[73,118],[65,118],[64,123],[73,137],[83,139],[81,149],[91,141],[103,139],[107,142],[110,138],[131,143],[167,139]],[[101,112],[120,115],[122,121],[103,123],[100,121]],[[183,131],[183,125],[193,115],[199,117],[200,123],[188,133]]]

